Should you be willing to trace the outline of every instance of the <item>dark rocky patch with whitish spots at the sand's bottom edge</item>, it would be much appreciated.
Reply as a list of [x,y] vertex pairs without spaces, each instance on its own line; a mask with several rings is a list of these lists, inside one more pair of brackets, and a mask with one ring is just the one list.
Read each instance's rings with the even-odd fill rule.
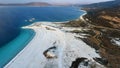
[[88,58],[77,58],[72,62],[70,68],[106,68],[103,65],[98,64],[97,62],[88,59]]

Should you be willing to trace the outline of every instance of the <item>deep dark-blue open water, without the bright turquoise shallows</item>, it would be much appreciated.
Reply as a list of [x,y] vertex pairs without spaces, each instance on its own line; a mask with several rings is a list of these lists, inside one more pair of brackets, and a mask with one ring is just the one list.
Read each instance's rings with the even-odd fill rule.
[[0,7],[0,46],[17,37],[22,26],[35,21],[69,21],[81,14],[76,7]]

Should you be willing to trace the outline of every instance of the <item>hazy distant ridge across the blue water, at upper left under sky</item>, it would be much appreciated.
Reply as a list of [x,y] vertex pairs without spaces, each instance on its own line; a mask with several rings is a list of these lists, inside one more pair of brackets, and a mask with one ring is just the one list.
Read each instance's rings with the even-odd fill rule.
[[51,4],[46,2],[12,3],[12,4],[0,3],[0,6],[51,6]]

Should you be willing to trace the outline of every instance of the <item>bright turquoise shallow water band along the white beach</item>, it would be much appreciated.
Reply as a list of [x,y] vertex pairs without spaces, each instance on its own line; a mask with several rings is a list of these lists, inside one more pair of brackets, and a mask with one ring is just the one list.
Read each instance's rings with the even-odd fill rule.
[[13,41],[0,48],[0,68],[20,52],[35,35],[33,30],[23,29]]

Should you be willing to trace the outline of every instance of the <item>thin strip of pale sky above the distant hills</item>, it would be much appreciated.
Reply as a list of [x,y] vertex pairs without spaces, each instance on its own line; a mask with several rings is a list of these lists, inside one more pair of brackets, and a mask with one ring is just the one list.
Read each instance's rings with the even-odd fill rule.
[[27,3],[27,2],[48,2],[48,3],[95,3],[110,0],[0,0],[0,3]]

